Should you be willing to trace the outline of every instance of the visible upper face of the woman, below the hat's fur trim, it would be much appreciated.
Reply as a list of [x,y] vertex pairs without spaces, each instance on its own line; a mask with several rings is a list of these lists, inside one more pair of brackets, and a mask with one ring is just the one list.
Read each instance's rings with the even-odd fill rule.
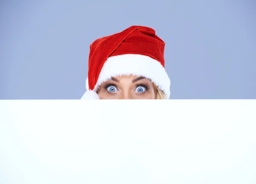
[[148,78],[119,75],[97,89],[100,99],[165,99],[164,93]]

